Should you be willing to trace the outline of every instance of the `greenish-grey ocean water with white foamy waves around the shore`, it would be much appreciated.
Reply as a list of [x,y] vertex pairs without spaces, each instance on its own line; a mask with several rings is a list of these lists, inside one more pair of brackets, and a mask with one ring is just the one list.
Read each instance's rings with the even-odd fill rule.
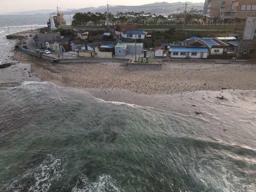
[[[9,23],[2,61],[7,28],[30,28]],[[160,110],[10,79],[0,76],[0,191],[256,191],[255,90],[186,93]]]

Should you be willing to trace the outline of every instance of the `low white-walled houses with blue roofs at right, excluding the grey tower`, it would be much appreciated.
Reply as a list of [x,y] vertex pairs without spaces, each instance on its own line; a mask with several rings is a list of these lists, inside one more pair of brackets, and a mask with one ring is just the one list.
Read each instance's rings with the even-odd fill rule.
[[168,46],[170,58],[236,59],[256,53],[256,40],[236,37],[191,37],[181,45]]

